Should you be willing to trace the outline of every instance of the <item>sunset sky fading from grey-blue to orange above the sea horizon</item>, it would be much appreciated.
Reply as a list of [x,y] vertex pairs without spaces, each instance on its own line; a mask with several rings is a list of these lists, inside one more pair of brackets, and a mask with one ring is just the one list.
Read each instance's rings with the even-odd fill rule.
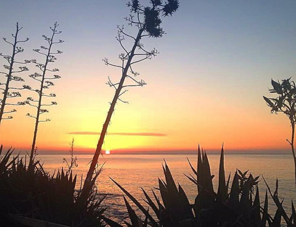
[[[144,41],[160,54],[137,64],[147,85],[129,89],[124,96],[129,104],[116,105],[103,149],[190,150],[198,144],[220,149],[223,142],[228,150],[289,149],[289,121],[272,115],[262,95],[269,95],[271,78],[296,76],[296,2],[180,2],[180,10],[163,20],[167,34]],[[72,138],[77,150],[96,147],[114,94],[105,84],[107,77],[116,81],[120,75],[102,58],[119,62],[116,25],[123,25],[129,14],[125,4],[1,1],[0,36],[11,38],[19,22],[20,37],[30,38],[20,60],[38,58],[32,49],[44,45],[41,35],[49,34],[55,21],[62,30],[58,38],[65,40],[53,65],[62,76],[51,88],[57,97],[49,100],[58,105],[49,107],[51,121],[40,123],[40,150],[67,150]],[[4,41],[0,52],[10,52]],[[33,86],[28,75],[36,68],[29,68],[22,77]],[[33,94],[24,92],[22,99],[27,96]],[[29,150],[34,121],[25,115],[34,110],[28,105],[16,109],[12,120],[1,123],[0,143]]]

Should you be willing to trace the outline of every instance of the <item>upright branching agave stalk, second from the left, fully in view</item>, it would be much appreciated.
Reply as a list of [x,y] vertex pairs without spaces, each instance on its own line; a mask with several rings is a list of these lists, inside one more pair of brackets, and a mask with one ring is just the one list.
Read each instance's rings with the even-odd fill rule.
[[[54,41],[54,37],[57,34],[62,33],[62,31],[58,31],[57,27],[59,24],[57,22],[54,23],[53,27],[50,27],[50,30],[52,31],[52,35],[50,37],[43,35],[42,37],[48,44],[48,46],[40,46],[40,49],[33,49],[38,54],[41,54],[45,57],[45,61],[43,63],[37,61],[36,59],[33,59],[32,62],[36,64],[36,67],[40,70],[40,73],[33,73],[29,75],[30,78],[34,79],[35,81],[38,81],[40,84],[40,87],[37,89],[34,89],[35,93],[37,93],[38,99],[35,100],[32,97],[28,97],[25,101],[26,104],[35,107],[37,109],[36,115],[31,115],[30,113],[27,114],[29,117],[33,117],[36,119],[35,121],[35,129],[34,129],[34,136],[33,136],[33,142],[31,147],[31,153],[30,153],[30,161],[29,161],[29,168],[33,165],[33,153],[35,149],[36,144],[36,137],[37,137],[37,130],[38,130],[38,124],[40,122],[47,122],[50,121],[49,118],[46,118],[45,120],[40,120],[40,115],[44,113],[48,113],[49,111],[47,109],[44,109],[46,106],[52,106],[57,105],[57,102],[51,102],[51,103],[43,103],[44,97],[56,97],[56,94],[50,93],[45,94],[44,89],[48,89],[52,86],[54,86],[54,83],[52,80],[61,78],[59,75],[53,75],[53,76],[47,76],[50,72],[58,72],[59,70],[57,68],[49,69],[49,63],[55,62],[57,58],[55,55],[62,54],[62,51],[57,50],[53,51],[53,45],[54,44],[60,44],[63,43],[63,40]],[[43,50],[43,51],[42,51]]]

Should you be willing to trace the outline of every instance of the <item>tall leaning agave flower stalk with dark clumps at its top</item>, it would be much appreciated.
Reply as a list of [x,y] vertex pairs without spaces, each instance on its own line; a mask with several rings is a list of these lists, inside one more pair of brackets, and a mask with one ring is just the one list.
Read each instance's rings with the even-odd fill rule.
[[[172,16],[179,9],[179,1],[151,0],[150,6],[144,7],[138,0],[132,0],[131,2],[128,2],[127,6],[130,7],[131,13],[124,19],[128,25],[136,28],[136,34],[128,34],[125,32],[123,26],[118,26],[116,39],[123,49],[123,53],[119,54],[120,65],[110,63],[107,58],[103,59],[106,65],[118,67],[121,70],[121,78],[118,82],[112,82],[111,79],[108,78],[107,84],[115,89],[115,94],[110,104],[110,109],[104,122],[96,151],[84,182],[83,191],[89,188],[89,183],[92,180],[115,104],[118,100],[126,103],[126,101],[121,98],[121,96],[127,92],[127,90],[123,90],[123,88],[144,86],[146,84],[143,80],[137,79],[139,73],[134,70],[134,64],[142,62],[146,59],[151,59],[158,54],[158,51],[155,48],[152,50],[146,50],[144,48],[143,39],[146,37],[160,38],[165,34],[163,28],[161,27],[161,18]],[[131,49],[124,46],[125,38],[131,39]],[[128,84],[125,84],[126,80],[129,81]]]

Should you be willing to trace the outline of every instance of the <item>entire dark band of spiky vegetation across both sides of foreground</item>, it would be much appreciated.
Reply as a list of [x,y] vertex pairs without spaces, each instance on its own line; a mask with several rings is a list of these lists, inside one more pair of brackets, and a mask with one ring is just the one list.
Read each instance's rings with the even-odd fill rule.
[[[2,154],[2,146],[0,155]],[[158,179],[159,188],[152,189],[153,196],[142,189],[143,202],[138,201],[119,183],[112,181],[124,192],[123,196],[129,219],[106,217],[105,197],[99,198],[93,181],[91,192],[82,197],[81,188],[75,190],[77,176],[71,170],[58,171],[50,175],[39,161],[34,161],[33,171],[27,166],[26,158],[12,157],[12,149],[1,155],[0,161],[0,221],[1,226],[46,226],[36,224],[56,223],[63,226],[110,226],[110,227],[207,227],[246,226],[279,227],[295,226],[296,212],[291,204],[292,214],[288,215],[278,197],[278,181],[274,193],[266,183],[266,196],[259,197],[259,176],[253,177],[248,171],[237,170],[231,181],[224,171],[224,151],[221,151],[218,191],[215,192],[206,152],[198,149],[197,168],[189,162],[193,174],[185,177],[197,187],[197,196],[190,204],[184,189],[176,185],[165,163],[165,180]],[[34,158],[35,160],[35,158]],[[189,160],[188,160],[189,161]],[[97,178],[101,168],[96,171]],[[82,179],[81,179],[82,180]],[[265,181],[265,179],[263,178]],[[82,182],[82,181],[81,181]],[[277,206],[275,215],[268,210],[268,194]],[[132,208],[128,198],[137,207]],[[105,203],[108,204],[107,199]],[[31,218],[35,225],[22,222],[23,217]],[[140,218],[144,217],[144,218]],[[33,223],[33,222],[32,222]],[[32,224],[31,223],[31,224]]]

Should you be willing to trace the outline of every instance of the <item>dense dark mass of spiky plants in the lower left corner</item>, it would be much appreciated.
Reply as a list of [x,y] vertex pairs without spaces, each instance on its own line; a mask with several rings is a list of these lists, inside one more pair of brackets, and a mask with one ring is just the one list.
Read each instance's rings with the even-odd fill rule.
[[12,152],[9,149],[0,161],[1,223],[11,226],[17,215],[66,226],[104,226],[106,207],[101,203],[105,197],[99,198],[94,183],[83,201],[80,191],[75,191],[77,176],[71,171],[62,169],[51,175],[39,161],[31,171],[26,158],[12,158]]

